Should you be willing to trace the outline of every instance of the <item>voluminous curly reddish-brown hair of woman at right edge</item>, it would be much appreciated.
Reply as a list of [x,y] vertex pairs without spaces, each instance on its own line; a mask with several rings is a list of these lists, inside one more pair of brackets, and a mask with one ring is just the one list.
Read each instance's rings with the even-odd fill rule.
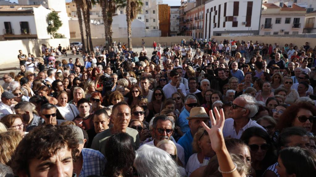
[[[305,102],[296,103],[286,108],[276,124],[276,129],[281,132],[283,128],[292,127],[292,123],[300,109],[307,109],[312,112],[313,116],[316,116],[315,106]],[[313,123],[311,132],[316,133],[316,123]]]

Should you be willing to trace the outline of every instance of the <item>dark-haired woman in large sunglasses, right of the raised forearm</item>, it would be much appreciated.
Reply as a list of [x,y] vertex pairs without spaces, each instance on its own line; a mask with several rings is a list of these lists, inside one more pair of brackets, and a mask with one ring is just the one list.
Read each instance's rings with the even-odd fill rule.
[[262,128],[250,127],[243,132],[240,139],[250,148],[251,166],[256,171],[256,176],[262,176],[277,159],[270,136]]

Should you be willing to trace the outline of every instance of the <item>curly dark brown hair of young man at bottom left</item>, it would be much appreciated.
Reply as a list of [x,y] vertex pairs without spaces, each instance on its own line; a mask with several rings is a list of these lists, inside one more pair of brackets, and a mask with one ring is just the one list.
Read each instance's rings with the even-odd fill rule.
[[15,170],[15,174],[29,174],[29,164],[32,159],[50,157],[65,146],[71,150],[72,158],[75,160],[79,153],[77,149],[79,145],[72,128],[60,125],[33,128],[17,146],[11,167]]

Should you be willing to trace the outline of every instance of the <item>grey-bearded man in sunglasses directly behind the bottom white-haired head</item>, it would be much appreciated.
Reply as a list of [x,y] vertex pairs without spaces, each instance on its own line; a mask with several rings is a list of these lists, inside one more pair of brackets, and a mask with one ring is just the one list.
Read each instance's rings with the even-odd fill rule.
[[[160,115],[154,118],[153,120],[153,131],[155,132],[154,140],[145,143],[147,145],[156,146],[159,141],[161,140],[170,140],[171,134],[174,129],[174,122],[171,118]],[[184,158],[184,151],[183,147],[180,146],[178,143],[174,143],[177,147],[177,153],[180,161],[183,165],[185,165],[185,158]]]

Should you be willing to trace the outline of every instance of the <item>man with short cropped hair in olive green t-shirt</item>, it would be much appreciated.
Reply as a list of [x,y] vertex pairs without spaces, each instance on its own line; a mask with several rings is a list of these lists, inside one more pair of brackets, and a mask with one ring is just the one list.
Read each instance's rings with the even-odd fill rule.
[[105,144],[107,139],[113,134],[123,132],[130,135],[133,149],[137,150],[140,143],[138,132],[133,128],[127,127],[131,120],[130,106],[128,106],[125,102],[119,102],[114,105],[110,119],[113,121],[113,127],[97,134],[92,141],[91,149],[100,151],[103,155],[105,155]]

